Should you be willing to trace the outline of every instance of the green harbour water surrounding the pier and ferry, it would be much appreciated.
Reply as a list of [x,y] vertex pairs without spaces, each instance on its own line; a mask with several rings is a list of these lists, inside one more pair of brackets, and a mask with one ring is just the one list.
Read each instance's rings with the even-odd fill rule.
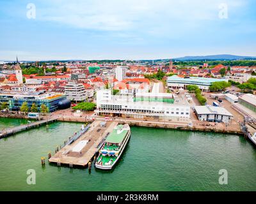
[[[1,126],[17,125],[4,120]],[[40,157],[79,128],[56,122],[0,140],[0,191],[256,191],[256,149],[236,135],[132,127],[111,171],[48,162],[42,168]],[[35,185],[26,183],[29,169],[36,171]],[[228,185],[218,184],[220,169],[228,171]]]

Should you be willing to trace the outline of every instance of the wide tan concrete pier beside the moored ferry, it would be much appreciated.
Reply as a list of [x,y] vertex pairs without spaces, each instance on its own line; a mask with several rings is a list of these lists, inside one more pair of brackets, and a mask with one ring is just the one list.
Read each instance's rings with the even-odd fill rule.
[[106,136],[108,136],[118,122],[106,122],[106,126],[100,126],[102,121],[96,120],[90,124],[90,128],[83,135],[70,144],[61,148],[49,159],[50,163],[58,166],[66,164],[69,166],[85,167],[99,151]]

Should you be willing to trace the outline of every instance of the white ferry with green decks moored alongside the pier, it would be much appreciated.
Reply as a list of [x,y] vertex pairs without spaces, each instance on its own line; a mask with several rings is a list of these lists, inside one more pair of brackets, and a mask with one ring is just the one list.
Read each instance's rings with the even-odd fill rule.
[[111,170],[120,159],[130,136],[131,130],[128,124],[116,126],[102,145],[95,167],[102,170]]

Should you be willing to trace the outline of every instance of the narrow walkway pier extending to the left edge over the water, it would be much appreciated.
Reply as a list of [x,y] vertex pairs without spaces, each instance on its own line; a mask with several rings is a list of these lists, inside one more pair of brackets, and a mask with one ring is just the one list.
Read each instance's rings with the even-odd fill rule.
[[14,135],[15,133],[26,131],[27,129],[37,128],[37,127],[42,126],[44,124],[55,122],[57,120],[57,118],[58,117],[49,117],[49,118],[44,119],[44,120],[38,120],[38,121],[31,122],[31,123],[28,123],[28,124],[15,126],[15,127],[12,127],[12,128],[6,128],[0,133],[0,139],[5,138],[5,137],[10,136],[10,135]]

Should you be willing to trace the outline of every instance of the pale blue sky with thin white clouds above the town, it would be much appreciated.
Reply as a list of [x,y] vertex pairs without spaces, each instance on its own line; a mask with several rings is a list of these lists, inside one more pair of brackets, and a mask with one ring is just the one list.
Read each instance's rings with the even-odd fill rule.
[[256,56],[255,0],[1,0],[0,60]]

